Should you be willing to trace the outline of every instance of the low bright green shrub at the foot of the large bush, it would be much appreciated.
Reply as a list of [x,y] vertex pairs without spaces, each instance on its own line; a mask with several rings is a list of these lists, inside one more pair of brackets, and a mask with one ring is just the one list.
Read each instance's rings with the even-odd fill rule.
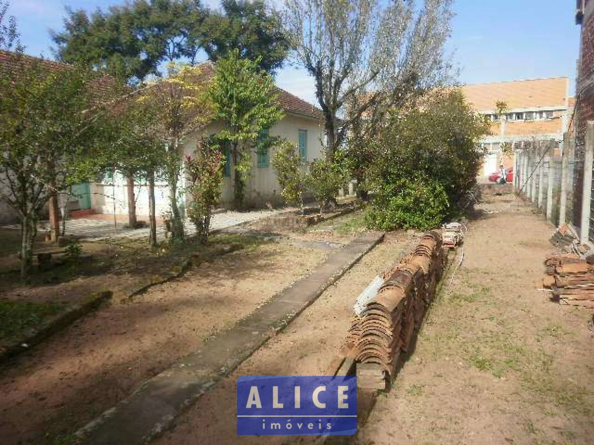
[[365,215],[368,227],[381,230],[438,227],[448,211],[443,187],[428,177],[400,176],[386,181],[377,190]]

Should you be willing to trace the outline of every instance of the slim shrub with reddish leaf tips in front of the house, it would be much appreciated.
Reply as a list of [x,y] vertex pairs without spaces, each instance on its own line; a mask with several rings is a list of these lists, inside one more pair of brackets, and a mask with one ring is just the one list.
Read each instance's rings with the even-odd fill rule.
[[217,145],[209,145],[206,141],[198,144],[194,157],[187,156],[185,171],[188,174],[188,192],[191,204],[188,217],[196,226],[200,243],[206,244],[210,217],[213,207],[219,201],[223,182],[223,165],[225,159]]

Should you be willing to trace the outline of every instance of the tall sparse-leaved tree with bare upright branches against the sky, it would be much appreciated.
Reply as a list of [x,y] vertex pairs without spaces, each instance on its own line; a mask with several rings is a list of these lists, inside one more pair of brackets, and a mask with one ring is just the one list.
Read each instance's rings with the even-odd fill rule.
[[290,46],[315,81],[330,160],[372,107],[383,115],[412,91],[446,78],[451,0],[424,0],[421,8],[407,0],[285,0],[285,5]]

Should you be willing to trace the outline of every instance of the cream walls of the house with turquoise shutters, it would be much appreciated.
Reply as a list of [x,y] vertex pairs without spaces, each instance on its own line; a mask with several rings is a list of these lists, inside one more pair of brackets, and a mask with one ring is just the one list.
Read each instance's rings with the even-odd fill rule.
[[[183,141],[183,154],[192,155],[197,148],[197,141],[203,135],[216,134],[222,128],[222,124],[214,122],[199,132],[192,134]],[[293,115],[287,113],[283,119],[274,125],[270,131],[270,136],[280,136],[293,142],[296,145],[299,142],[299,130],[307,131],[307,161],[312,162],[321,157],[323,152],[322,138],[323,127],[318,119]],[[280,196],[279,183],[276,179],[276,173],[272,166],[274,152],[268,154],[268,166],[260,167],[257,162],[257,154],[252,153],[252,174],[246,184],[245,203],[248,206],[261,207],[267,202],[278,204],[282,201]],[[220,206],[230,208],[233,205],[233,166],[231,165],[229,177],[223,178],[223,188],[220,199]],[[137,215],[149,214],[149,195],[146,183],[142,180],[136,180],[134,193],[136,197]],[[179,183],[179,190],[185,186],[185,177],[182,174]],[[128,213],[127,201],[127,183],[124,177],[116,173],[112,179],[105,180],[102,183],[91,184],[91,208],[97,213],[125,215]],[[155,190],[156,214],[159,215],[169,209],[169,188],[165,182],[157,182]],[[182,195],[182,205],[188,202],[189,196]],[[115,202],[114,202],[115,201]],[[115,204],[115,209],[114,209]]]

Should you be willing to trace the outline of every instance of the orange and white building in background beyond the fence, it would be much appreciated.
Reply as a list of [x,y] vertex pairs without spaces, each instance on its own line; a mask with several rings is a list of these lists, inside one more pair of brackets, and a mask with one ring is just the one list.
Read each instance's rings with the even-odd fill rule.
[[[462,91],[476,112],[491,122],[491,135],[481,140],[485,163],[481,176],[486,178],[500,163],[511,167],[513,160],[501,152],[501,144],[531,139],[563,141],[573,98],[569,97],[567,77],[529,79],[490,84],[465,85]],[[499,115],[497,102],[507,106]]]

